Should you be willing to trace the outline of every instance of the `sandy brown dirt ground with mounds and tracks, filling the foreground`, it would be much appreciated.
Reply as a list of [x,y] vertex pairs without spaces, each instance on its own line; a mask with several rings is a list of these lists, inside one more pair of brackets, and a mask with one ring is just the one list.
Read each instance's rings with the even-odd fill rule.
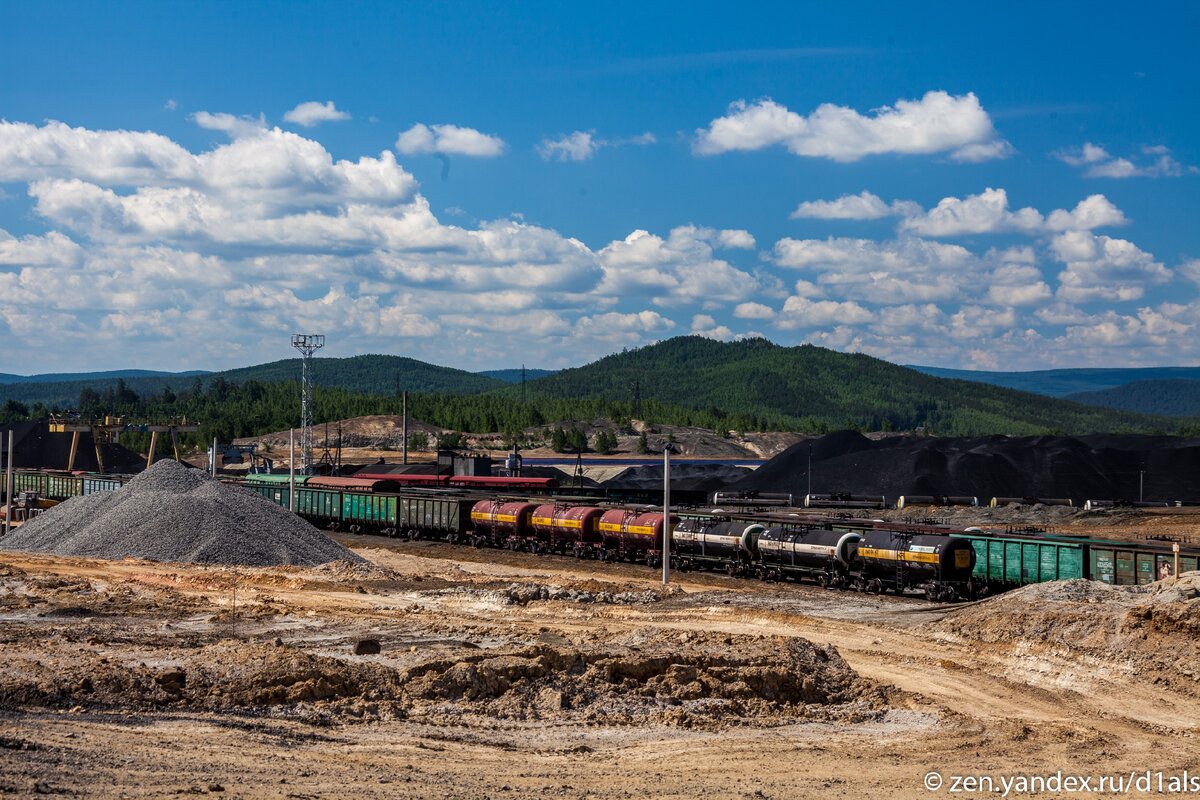
[[875,800],[936,796],[931,770],[1200,757],[1187,591],[664,590],[632,565],[340,540],[371,565],[0,553],[0,794]]

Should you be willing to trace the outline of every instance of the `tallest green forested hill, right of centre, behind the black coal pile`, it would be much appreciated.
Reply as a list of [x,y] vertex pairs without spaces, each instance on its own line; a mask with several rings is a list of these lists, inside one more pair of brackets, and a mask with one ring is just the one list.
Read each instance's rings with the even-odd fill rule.
[[[946,435],[1174,429],[1177,422],[948,380],[862,354],[698,336],[614,354],[527,384],[530,398],[601,397],[739,414],[763,427],[857,427]],[[504,389],[512,396],[514,389]]]

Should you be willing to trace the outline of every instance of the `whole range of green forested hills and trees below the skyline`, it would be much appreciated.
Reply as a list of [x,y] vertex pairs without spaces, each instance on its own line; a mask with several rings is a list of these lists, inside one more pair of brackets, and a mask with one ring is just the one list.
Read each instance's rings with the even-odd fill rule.
[[[140,420],[186,416],[203,426],[197,444],[214,435],[226,441],[295,425],[299,372],[299,360],[292,359],[203,377],[118,379],[102,389],[55,384],[76,395],[55,403],[8,395],[0,403],[0,422],[43,417],[54,405]],[[626,429],[637,419],[719,433],[924,428],[938,435],[1036,435],[1195,428],[1195,421],[946,380],[866,355],[766,339],[668,339],[530,380],[527,402],[520,386],[397,356],[318,359],[316,375],[318,423],[398,414],[397,390],[407,387],[413,419],[510,439],[539,428],[548,437],[559,422],[598,419]],[[19,387],[0,386],[0,401],[13,389]]]

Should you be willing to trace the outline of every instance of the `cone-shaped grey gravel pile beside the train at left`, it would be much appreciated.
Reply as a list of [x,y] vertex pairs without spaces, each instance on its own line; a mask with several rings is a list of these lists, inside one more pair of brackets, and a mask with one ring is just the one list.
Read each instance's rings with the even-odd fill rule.
[[116,492],[44,511],[0,539],[0,549],[248,566],[362,561],[270,500],[174,461]]

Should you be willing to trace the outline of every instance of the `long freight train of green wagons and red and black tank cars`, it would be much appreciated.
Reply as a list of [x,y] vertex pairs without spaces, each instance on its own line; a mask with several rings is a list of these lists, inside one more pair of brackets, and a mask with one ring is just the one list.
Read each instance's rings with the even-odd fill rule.
[[[917,590],[934,600],[1067,578],[1145,584],[1200,566],[1200,548],[1183,547],[1176,553],[1158,542],[1000,534],[820,517],[772,506],[764,512],[745,507],[684,510],[672,515],[665,525],[661,511],[652,506],[612,506],[595,498],[530,497],[528,488],[520,497],[484,495],[478,492],[480,487],[412,488],[398,486],[392,477],[298,476],[294,507],[314,524],[352,533],[442,539],[652,566],[661,565],[666,529],[671,531],[672,563],[683,570],[806,579],[862,591]],[[65,499],[120,488],[124,479],[17,473],[16,482],[18,492]],[[286,475],[251,475],[244,485],[292,507],[292,486]],[[553,487],[541,483],[540,488]]]

